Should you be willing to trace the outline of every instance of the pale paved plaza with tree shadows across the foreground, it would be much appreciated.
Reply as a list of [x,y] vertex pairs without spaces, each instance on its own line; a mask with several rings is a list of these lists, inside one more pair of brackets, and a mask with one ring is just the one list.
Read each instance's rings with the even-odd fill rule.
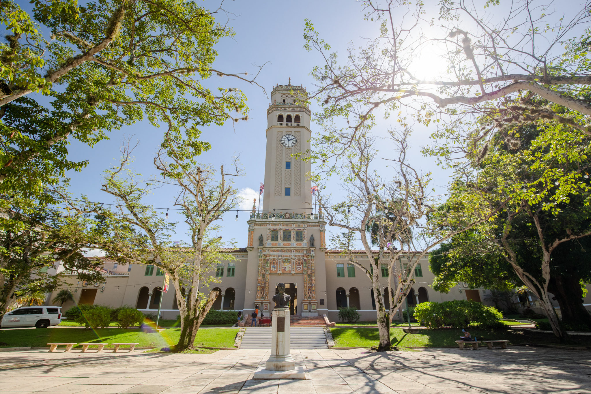
[[591,352],[294,350],[311,380],[252,380],[269,351],[0,353],[0,393],[591,393]]

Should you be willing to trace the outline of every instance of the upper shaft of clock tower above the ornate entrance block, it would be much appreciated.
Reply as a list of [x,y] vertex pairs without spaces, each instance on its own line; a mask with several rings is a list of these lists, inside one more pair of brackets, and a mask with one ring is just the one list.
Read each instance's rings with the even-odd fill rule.
[[293,157],[310,149],[310,109],[302,86],[277,84],[267,109],[267,156],[262,211],[311,213],[310,163]]

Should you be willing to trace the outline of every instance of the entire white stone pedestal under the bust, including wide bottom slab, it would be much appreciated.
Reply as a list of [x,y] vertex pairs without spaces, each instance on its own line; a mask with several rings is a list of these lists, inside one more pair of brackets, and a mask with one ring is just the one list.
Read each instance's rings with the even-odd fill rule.
[[272,319],[271,356],[259,367],[253,379],[306,379],[303,366],[290,354],[290,310],[275,309]]

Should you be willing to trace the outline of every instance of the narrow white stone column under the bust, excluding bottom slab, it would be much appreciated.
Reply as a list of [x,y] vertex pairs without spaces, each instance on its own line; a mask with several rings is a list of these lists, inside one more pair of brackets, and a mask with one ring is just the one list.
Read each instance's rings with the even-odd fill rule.
[[275,309],[272,319],[271,356],[265,363],[268,371],[288,371],[296,368],[290,354],[290,310]]

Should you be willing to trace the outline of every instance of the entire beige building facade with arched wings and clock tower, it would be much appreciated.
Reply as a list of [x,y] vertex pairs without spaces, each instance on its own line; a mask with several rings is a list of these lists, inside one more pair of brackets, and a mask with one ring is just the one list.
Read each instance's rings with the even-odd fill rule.
[[[339,307],[355,305],[361,320],[372,320],[376,312],[371,280],[339,250],[327,250],[326,222],[322,211],[314,209],[312,185],[306,177],[310,164],[293,157],[310,149],[311,112],[302,105],[305,97],[306,89],[291,82],[278,84],[272,90],[265,131],[263,207],[260,211],[256,206],[252,209],[247,222],[246,247],[225,250],[236,260],[220,261],[216,272],[212,272],[221,280],[215,284],[221,294],[213,308],[251,314],[258,307],[259,315],[268,316],[273,309],[270,300],[277,284],[283,282],[293,301],[293,315],[327,314],[331,321],[337,321]],[[365,252],[357,253],[359,262],[369,267]],[[131,305],[145,313],[157,312],[160,305],[164,318],[175,318],[178,314],[174,286],[171,284],[168,292],[161,292],[164,272],[160,269],[105,261],[103,271],[103,282],[87,284],[74,280],[70,288],[75,302],[113,307]],[[387,273],[382,276],[381,287],[386,291]],[[459,284],[447,294],[434,291],[430,286],[434,275],[429,271],[427,257],[415,270],[415,279],[407,297],[410,305],[452,299],[485,301],[483,289],[471,290],[466,284]],[[54,294],[48,299],[53,297]],[[73,302],[64,304],[64,310],[72,305]],[[402,308],[405,305],[406,302]]]

